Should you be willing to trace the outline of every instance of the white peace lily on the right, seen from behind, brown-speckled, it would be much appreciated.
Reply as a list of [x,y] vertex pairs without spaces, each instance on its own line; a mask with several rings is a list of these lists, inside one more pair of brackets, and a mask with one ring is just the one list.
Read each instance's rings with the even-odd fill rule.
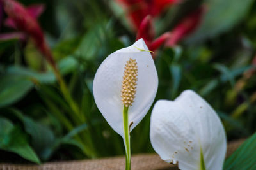
[[202,97],[186,90],[155,104],[150,141],[161,159],[180,169],[222,169],[227,139],[220,118]]

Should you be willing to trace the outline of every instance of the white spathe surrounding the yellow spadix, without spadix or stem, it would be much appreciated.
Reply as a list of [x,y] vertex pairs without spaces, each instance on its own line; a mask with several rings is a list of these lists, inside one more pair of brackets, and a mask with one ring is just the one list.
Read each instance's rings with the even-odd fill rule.
[[[139,50],[140,49],[140,50]],[[145,51],[142,51],[145,50]],[[157,92],[158,78],[154,60],[143,39],[133,45],[111,53],[100,65],[93,80],[93,96],[108,124],[124,138],[121,90],[125,64],[136,59],[138,81],[132,106],[129,106],[130,131],[147,114]]]

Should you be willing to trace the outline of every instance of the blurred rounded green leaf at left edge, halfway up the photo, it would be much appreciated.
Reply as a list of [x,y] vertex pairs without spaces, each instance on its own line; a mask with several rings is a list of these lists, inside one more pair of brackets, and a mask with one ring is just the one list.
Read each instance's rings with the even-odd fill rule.
[[33,83],[24,76],[6,74],[0,80],[0,108],[19,101],[33,88]]

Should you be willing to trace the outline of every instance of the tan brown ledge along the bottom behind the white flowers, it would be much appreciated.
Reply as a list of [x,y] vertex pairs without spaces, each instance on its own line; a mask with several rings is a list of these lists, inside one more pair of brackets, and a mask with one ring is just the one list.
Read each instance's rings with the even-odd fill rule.
[[[227,157],[229,157],[244,139],[228,143]],[[20,165],[20,164],[0,164],[0,170],[103,170],[103,169],[125,169],[124,157],[110,157],[105,159],[69,161],[69,162],[51,162],[38,165]],[[156,153],[132,155],[132,170],[165,170],[178,169],[177,166],[167,164]]]

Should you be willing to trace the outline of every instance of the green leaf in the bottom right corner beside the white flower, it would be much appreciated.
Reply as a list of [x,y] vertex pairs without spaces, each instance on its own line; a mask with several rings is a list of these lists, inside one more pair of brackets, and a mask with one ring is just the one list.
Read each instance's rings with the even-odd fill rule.
[[246,139],[244,143],[225,161],[225,170],[256,169],[256,133]]

